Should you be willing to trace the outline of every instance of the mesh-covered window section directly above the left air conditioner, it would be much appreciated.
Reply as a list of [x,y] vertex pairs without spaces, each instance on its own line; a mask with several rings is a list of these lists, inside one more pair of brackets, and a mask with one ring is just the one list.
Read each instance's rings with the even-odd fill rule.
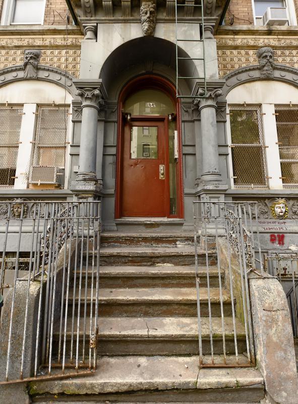
[[33,166],[65,166],[68,106],[38,107]]

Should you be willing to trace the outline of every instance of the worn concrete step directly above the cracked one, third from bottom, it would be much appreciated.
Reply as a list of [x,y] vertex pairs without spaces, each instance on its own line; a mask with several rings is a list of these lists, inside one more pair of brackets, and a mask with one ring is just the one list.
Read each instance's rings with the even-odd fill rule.
[[[69,293],[69,307],[72,306],[73,291]],[[87,314],[90,313],[91,289],[87,288]],[[84,305],[85,288],[75,290],[75,305]],[[95,291],[93,291],[93,301]],[[231,316],[231,298],[227,290],[222,290],[223,312]],[[212,316],[220,316],[220,296],[218,288],[210,288]],[[201,316],[208,316],[208,289],[200,288]],[[81,311],[83,308],[81,309]],[[196,288],[101,288],[99,291],[100,316],[197,316]]]

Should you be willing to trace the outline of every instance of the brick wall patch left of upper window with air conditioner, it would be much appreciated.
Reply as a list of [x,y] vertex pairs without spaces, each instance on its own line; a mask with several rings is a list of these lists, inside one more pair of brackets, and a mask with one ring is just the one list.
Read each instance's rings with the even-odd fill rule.
[[[295,0],[298,3],[298,0]],[[232,20],[233,19],[233,20]],[[254,14],[252,0],[231,0],[225,15],[225,24],[253,25]]]

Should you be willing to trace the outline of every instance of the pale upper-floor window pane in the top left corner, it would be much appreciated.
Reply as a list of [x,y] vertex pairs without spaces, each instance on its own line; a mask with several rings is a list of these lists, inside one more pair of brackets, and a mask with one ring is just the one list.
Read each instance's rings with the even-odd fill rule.
[[13,24],[41,24],[43,0],[15,0],[11,22]]

